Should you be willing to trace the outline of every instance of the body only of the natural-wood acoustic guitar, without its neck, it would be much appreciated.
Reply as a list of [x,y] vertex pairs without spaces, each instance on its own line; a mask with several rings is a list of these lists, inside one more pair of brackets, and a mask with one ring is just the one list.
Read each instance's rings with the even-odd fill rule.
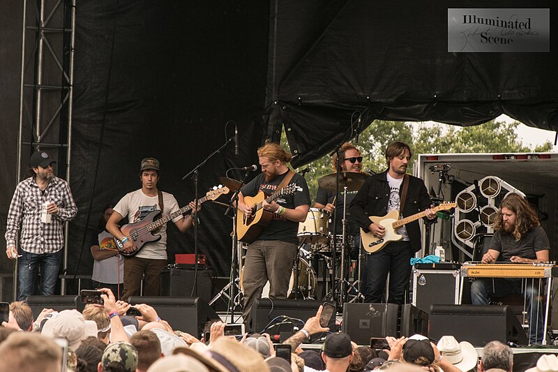
[[[251,205],[252,211],[255,210],[255,205],[261,203],[266,198],[263,191],[259,191],[254,197],[245,196],[244,204]],[[243,243],[252,243],[255,241],[262,229],[269,225],[269,222],[273,218],[273,213],[266,211],[263,208],[257,209],[254,214],[250,217],[239,210],[236,214],[236,235],[239,241]]]

